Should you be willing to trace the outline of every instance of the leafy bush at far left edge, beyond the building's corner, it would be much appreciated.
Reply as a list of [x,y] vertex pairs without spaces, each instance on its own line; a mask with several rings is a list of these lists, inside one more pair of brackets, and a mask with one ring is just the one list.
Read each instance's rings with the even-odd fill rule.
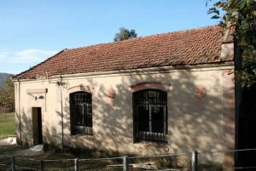
[[12,110],[15,108],[15,84],[11,79],[7,79],[0,88],[0,106]]

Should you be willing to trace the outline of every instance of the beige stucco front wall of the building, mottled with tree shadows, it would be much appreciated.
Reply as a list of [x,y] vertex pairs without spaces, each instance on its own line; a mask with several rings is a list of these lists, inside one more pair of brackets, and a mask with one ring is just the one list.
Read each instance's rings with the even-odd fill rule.
[[[44,143],[96,148],[137,155],[185,151],[230,150],[235,148],[235,93],[233,66],[207,66],[189,69],[159,68],[15,83],[17,136],[23,144],[32,142],[32,107],[42,107]],[[133,143],[132,85],[162,83],[167,91],[167,144]],[[93,137],[70,135],[69,94],[76,86],[92,93]],[[195,88],[204,87],[203,98]],[[47,90],[46,90],[47,88]],[[108,97],[113,88],[114,99]],[[43,95],[44,99],[35,100]],[[62,109],[61,109],[62,106]],[[21,130],[21,132],[20,132]]]

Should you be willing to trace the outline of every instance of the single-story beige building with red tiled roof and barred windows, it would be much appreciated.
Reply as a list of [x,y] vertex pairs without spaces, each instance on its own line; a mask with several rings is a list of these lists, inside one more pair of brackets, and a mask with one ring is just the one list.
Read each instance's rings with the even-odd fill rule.
[[207,26],[63,49],[15,76],[18,142],[134,155],[234,150],[234,47],[230,30]]

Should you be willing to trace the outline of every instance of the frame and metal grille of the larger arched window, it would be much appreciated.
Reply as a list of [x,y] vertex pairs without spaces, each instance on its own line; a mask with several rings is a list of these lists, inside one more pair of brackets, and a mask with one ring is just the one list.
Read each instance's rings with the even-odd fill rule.
[[[155,96],[160,96],[160,97],[154,97],[150,98],[147,97],[147,94],[158,94]],[[149,96],[148,95],[148,96]],[[142,99],[137,99],[137,98],[142,98]],[[161,142],[161,143],[166,143],[166,134],[168,134],[168,108],[167,108],[167,92],[161,89],[156,89],[156,88],[145,88],[141,89],[139,91],[133,92],[132,94],[132,105],[133,105],[133,134],[134,134],[134,143],[137,142]],[[138,107],[148,107],[148,131],[141,131],[139,130],[140,122],[139,121],[139,112]],[[160,129],[163,129],[162,132],[160,132],[160,129],[158,132],[153,131],[153,129],[158,129],[158,128],[153,128],[156,126],[153,126],[154,122],[152,120],[153,116],[153,107],[162,107],[162,126]],[[159,111],[159,113],[161,113]],[[143,123],[142,123],[143,124]]]

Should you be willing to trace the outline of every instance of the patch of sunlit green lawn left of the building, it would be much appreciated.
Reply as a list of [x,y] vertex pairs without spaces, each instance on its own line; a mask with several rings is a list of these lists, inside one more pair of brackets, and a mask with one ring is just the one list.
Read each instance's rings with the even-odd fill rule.
[[0,114],[0,139],[15,135],[15,113]]

